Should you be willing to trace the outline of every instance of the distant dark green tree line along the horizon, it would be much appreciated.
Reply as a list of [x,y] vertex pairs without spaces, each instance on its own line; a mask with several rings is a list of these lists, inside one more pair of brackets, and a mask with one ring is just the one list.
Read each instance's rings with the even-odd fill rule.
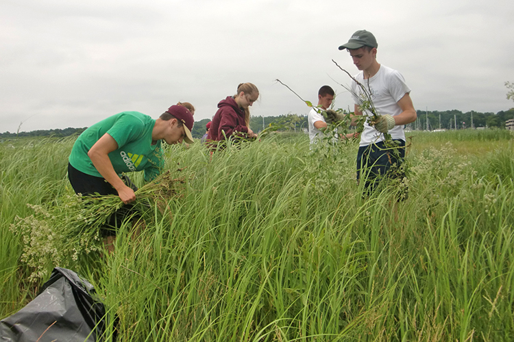
[[[514,118],[514,108],[507,111],[498,111],[498,113],[480,113],[479,111],[467,111],[463,113],[459,110],[447,111],[426,111],[417,110],[417,120],[409,124],[410,129],[426,129],[426,121],[428,119],[428,129],[466,129],[472,127],[497,127],[504,128],[505,121]],[[193,127],[193,137],[200,138],[206,132],[206,124],[210,119],[203,119],[195,122]],[[456,126],[455,126],[456,122]],[[254,131],[262,131],[270,124],[278,127],[278,131],[296,131],[301,132],[308,129],[307,116],[297,114],[286,114],[281,116],[252,116],[250,118],[250,127]],[[67,137],[69,135],[79,135],[87,127],[83,128],[67,128],[67,129],[48,129],[19,133],[0,133],[0,138],[13,137]]]

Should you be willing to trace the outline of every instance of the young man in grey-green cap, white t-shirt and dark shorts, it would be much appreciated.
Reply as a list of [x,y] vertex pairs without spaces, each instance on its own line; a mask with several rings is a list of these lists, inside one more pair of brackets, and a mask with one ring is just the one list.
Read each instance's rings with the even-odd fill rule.
[[[403,125],[414,122],[417,118],[411,101],[411,89],[400,73],[377,62],[377,48],[375,36],[366,30],[356,31],[346,44],[339,47],[339,50],[347,49],[350,52],[355,66],[361,70],[355,75],[355,79],[371,93],[371,100],[377,114],[380,115],[372,126],[365,122],[364,131],[360,136],[357,179],[360,179],[360,174],[365,170],[369,171],[366,187],[373,187],[374,179],[387,174],[393,164],[400,166],[405,157]],[[370,112],[363,113],[360,110],[362,91],[356,82],[352,83],[354,114],[371,116]],[[397,153],[392,153],[392,150],[384,145],[383,133],[389,133],[399,144]]]

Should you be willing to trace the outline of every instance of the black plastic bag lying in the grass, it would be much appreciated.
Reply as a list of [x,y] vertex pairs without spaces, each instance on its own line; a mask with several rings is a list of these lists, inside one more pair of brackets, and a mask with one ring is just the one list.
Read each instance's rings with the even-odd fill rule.
[[0,341],[103,341],[106,309],[94,295],[87,280],[56,267],[32,302],[0,321]]

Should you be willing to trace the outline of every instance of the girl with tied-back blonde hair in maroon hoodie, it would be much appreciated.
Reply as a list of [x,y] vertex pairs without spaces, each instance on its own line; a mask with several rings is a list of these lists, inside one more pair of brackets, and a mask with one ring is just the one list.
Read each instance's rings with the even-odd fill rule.
[[252,137],[257,135],[250,129],[249,106],[259,97],[259,90],[252,83],[241,83],[234,96],[227,96],[218,103],[218,111],[210,124],[207,140],[225,140],[225,137]]

